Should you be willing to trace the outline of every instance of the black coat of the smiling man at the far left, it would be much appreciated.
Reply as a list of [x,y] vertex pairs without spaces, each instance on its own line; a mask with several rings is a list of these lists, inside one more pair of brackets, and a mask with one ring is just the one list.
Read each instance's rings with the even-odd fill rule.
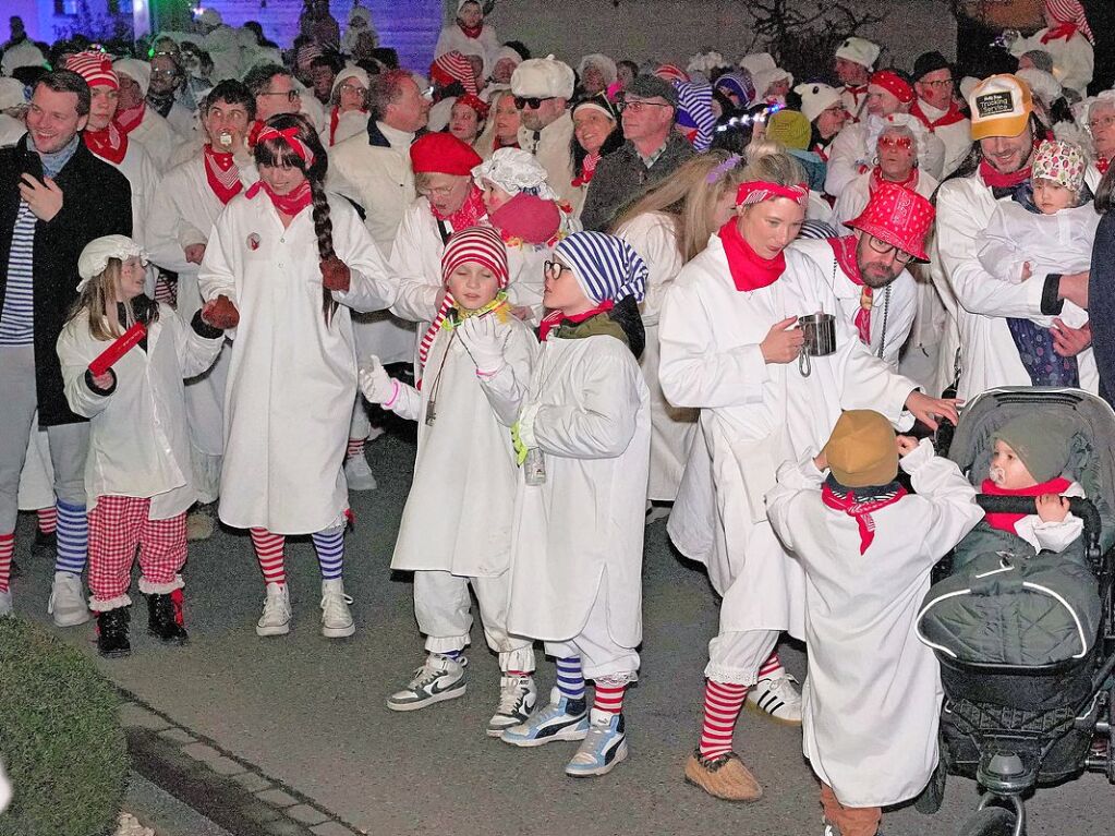
[[[14,147],[0,149],[0,310],[8,288],[8,260],[25,172],[42,179],[42,164],[39,155],[27,148],[26,134]],[[35,224],[35,386],[40,427],[85,420],[66,404],[55,348],[77,299],[78,256],[86,244],[101,235],[132,234],[132,189],[127,178],[95,157],[84,143],[78,143],[55,183],[62,191],[62,207],[50,221]]]

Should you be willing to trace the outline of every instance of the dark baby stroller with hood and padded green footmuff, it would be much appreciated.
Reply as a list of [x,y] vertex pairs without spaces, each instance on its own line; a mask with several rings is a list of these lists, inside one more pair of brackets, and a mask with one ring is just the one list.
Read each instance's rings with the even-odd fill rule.
[[[1024,796],[1085,770],[1105,772],[1115,782],[1115,412],[1105,401],[1077,389],[993,389],[964,407],[948,455],[979,486],[988,473],[992,434],[1036,409],[1055,415],[1065,428],[1072,475],[1088,497],[1070,499],[1072,513],[1084,521],[1084,534],[1074,544],[1079,554],[1069,555],[1066,550],[1058,555],[1035,555],[1032,548],[1029,555],[988,552],[988,541],[980,537],[991,529],[981,524],[982,535],[977,527],[939,564],[938,582],[919,614],[919,631],[928,636],[941,664],[944,703],[941,759],[915,805],[922,813],[935,813],[948,774],[975,778],[983,795],[961,827],[961,836],[1024,836]],[[1034,513],[1034,499],[1028,497],[980,495],[978,502],[992,513]],[[973,560],[971,548],[964,553],[969,541],[982,550],[978,560],[983,563],[979,571],[970,563],[962,574],[960,562]],[[1020,582],[1039,564],[1048,570],[1045,580],[1031,575],[1032,582]],[[1066,572],[1057,577],[1060,565]],[[1016,613],[998,612],[980,624],[958,624],[956,615],[966,595],[971,615],[992,612],[986,607],[1010,610],[1027,593],[1035,594],[1028,603],[1017,604],[1020,612],[1014,622]],[[951,624],[949,614],[941,615],[948,606],[934,609],[938,602],[957,604]],[[1008,625],[1009,640],[992,634],[992,622]],[[963,634],[966,629],[970,636]],[[981,658],[979,651],[992,645],[1004,655],[989,652],[987,658],[996,661],[973,661],[973,657]],[[958,647],[959,652],[953,649]],[[1015,663],[1004,663],[1007,655]]]

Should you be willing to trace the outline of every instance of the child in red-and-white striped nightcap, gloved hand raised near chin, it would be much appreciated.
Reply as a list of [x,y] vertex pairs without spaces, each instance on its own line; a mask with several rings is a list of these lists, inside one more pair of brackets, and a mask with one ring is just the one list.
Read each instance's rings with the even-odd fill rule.
[[507,250],[491,226],[456,232],[442,256],[445,301],[430,325],[421,390],[388,377],[378,358],[360,369],[372,404],[418,421],[418,456],[391,568],[414,572],[415,618],[426,661],[387,698],[416,711],[465,693],[465,648],[479,602],[500,657],[498,737],[534,709],[534,650],[507,633],[511,509],[521,479],[508,427],[526,392],[537,342],[507,302]]

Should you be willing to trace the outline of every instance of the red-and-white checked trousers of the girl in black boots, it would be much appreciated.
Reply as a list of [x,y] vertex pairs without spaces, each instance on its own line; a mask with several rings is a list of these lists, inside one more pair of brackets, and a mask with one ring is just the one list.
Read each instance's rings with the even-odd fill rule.
[[139,589],[168,594],[184,585],[178,572],[186,562],[186,513],[148,519],[151,499],[100,496],[89,512],[90,607],[112,610],[130,603],[132,563],[139,550]]

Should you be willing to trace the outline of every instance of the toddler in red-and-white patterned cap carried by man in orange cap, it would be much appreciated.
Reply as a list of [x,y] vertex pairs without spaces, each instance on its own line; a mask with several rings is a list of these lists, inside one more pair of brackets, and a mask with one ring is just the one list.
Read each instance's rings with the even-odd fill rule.
[[[1030,182],[999,201],[976,236],[980,264],[1005,282],[1034,281],[1040,294],[1050,273],[1085,272],[1099,215],[1084,184],[1087,157],[1080,146],[1047,142],[1034,155]],[[1088,314],[1069,301],[1060,317],[1008,318],[1007,325],[1034,386],[1096,389]],[[1082,381],[1082,373],[1084,380]]]

